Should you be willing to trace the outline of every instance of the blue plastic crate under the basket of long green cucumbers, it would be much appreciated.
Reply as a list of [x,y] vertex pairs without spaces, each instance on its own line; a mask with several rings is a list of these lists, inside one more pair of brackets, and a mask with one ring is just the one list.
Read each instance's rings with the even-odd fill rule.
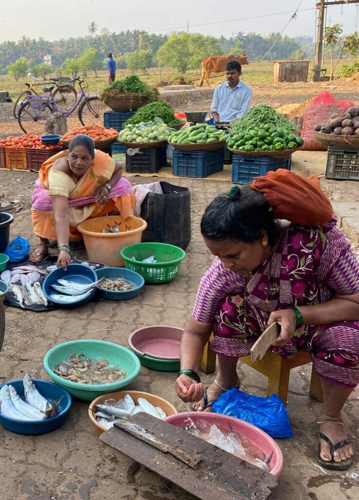
[[173,174],[207,177],[223,170],[224,147],[215,151],[173,151]]

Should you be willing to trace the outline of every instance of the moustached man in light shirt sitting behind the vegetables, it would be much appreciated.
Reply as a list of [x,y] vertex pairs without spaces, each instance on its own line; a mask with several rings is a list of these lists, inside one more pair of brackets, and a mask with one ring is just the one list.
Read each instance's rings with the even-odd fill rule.
[[215,88],[211,104],[211,112],[215,122],[232,122],[244,116],[253,98],[252,88],[240,81],[242,66],[231,61],[226,66],[227,81]]

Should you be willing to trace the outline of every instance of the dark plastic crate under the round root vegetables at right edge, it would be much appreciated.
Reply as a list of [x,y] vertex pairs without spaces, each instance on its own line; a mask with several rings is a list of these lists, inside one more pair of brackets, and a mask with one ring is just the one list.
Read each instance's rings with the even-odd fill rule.
[[327,179],[359,180],[359,149],[328,147]]

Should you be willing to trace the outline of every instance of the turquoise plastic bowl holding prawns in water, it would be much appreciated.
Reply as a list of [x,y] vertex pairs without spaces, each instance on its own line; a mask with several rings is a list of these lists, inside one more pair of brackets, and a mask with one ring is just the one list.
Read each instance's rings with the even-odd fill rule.
[[[71,382],[56,375],[52,370],[66,359],[69,354],[83,352],[85,356],[92,359],[103,357],[110,363],[116,363],[119,368],[126,370],[127,377],[113,383],[103,384],[79,384]],[[92,401],[95,397],[107,392],[113,392],[123,387],[127,387],[139,374],[141,365],[137,356],[122,345],[107,342],[106,340],[72,340],[55,345],[43,358],[43,366],[48,376],[58,385],[64,387],[70,394],[84,401]]]

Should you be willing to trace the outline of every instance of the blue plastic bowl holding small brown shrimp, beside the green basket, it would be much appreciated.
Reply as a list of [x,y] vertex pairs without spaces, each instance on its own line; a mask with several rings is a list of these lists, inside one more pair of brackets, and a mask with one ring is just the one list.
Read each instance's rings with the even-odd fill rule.
[[145,280],[143,279],[141,274],[138,274],[138,272],[131,271],[131,269],[126,269],[124,267],[104,267],[102,269],[97,269],[95,273],[97,274],[98,279],[123,278],[135,286],[135,288],[132,288],[132,290],[123,291],[110,291],[106,290],[106,288],[101,288],[101,286],[97,286],[97,296],[101,298],[107,298],[108,300],[127,300],[128,298],[136,297],[145,284]]

